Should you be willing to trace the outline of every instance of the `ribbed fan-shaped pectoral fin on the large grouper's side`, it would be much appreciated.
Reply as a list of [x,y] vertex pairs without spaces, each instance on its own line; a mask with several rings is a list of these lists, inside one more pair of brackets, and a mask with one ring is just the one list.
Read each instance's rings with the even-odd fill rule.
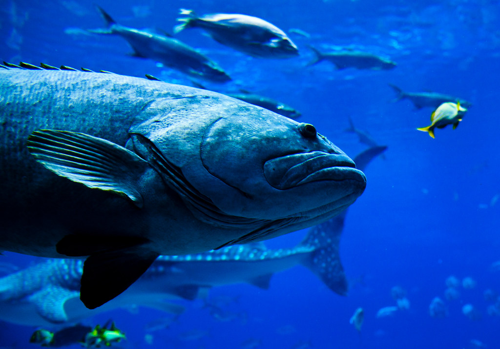
[[110,190],[142,207],[137,181],[148,166],[130,150],[84,133],[38,130],[28,137],[29,152],[52,172],[89,188]]

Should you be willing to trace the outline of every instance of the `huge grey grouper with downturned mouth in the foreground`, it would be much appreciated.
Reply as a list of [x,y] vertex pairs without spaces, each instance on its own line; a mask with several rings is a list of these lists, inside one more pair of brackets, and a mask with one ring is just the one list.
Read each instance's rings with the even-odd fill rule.
[[366,185],[310,124],[192,87],[21,65],[0,69],[0,250],[89,256],[89,308],[160,254],[312,226]]

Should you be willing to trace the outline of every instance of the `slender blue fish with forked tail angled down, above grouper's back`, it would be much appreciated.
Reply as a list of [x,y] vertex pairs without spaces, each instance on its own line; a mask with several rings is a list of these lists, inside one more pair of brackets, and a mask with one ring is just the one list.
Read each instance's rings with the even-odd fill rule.
[[226,82],[231,78],[217,63],[180,40],[147,30],[120,25],[102,8],[96,6],[106,22],[106,29],[90,29],[97,34],[123,37],[132,47],[133,55],[156,60],[169,68],[192,77],[213,82]]

